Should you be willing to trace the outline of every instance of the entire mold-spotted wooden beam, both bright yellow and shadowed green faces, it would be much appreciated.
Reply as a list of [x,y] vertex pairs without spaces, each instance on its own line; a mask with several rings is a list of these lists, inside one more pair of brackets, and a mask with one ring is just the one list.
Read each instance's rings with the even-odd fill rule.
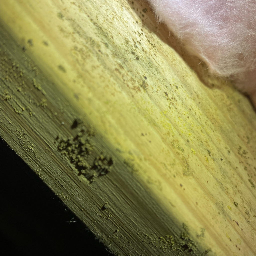
[[0,7],[1,136],[111,252],[256,255],[246,96],[143,1]]

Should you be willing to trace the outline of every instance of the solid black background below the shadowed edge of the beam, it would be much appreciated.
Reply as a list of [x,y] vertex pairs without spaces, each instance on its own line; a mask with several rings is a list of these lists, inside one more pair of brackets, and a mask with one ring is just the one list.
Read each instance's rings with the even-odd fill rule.
[[113,256],[2,138],[0,160],[0,255]]

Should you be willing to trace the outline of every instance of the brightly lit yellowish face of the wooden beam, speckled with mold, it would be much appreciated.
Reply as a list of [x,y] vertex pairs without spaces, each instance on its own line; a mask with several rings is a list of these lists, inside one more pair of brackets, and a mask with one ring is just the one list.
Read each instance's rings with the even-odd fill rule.
[[207,255],[256,254],[256,114],[146,3],[9,0],[0,17],[160,212]]

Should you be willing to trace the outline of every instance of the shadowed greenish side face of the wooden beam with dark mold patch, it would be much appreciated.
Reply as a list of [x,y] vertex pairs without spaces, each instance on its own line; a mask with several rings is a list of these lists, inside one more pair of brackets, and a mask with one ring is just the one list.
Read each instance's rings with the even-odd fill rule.
[[97,238],[117,255],[201,255],[188,227],[162,212],[135,182],[132,165],[79,117],[4,29],[0,56],[1,136]]

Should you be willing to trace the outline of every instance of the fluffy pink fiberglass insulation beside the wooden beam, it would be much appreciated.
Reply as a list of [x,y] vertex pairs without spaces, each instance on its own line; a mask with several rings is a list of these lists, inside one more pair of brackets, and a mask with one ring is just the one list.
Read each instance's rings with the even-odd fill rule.
[[255,0],[148,0],[209,72],[235,79],[256,105]]

